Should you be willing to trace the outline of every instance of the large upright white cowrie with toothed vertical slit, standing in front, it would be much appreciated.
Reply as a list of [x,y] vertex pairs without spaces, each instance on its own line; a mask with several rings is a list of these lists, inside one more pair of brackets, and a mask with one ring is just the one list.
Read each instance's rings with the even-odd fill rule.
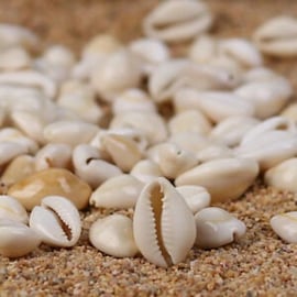
[[183,261],[196,238],[190,209],[164,177],[143,188],[134,211],[133,231],[142,255],[162,267]]

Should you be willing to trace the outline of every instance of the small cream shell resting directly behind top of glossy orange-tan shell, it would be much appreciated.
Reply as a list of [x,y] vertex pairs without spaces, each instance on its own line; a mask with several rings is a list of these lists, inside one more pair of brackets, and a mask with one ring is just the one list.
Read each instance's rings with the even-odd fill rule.
[[72,162],[73,150],[64,143],[48,143],[35,155],[35,169],[43,170],[50,167],[68,168]]

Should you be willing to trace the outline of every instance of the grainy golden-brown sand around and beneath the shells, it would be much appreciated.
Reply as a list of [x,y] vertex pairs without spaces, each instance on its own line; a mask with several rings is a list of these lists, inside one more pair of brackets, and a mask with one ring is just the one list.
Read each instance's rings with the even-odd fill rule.
[[[44,46],[62,43],[78,54],[97,33],[123,42],[140,36],[140,21],[157,2],[0,0],[0,22],[26,25]],[[297,16],[295,0],[208,2],[218,36],[249,37],[268,18]],[[267,58],[266,64],[288,77],[296,92],[297,59]],[[81,212],[84,232],[75,248],[41,245],[19,260],[0,256],[0,296],[297,296],[297,245],[279,240],[268,223],[275,213],[296,210],[297,196],[258,179],[239,200],[218,206],[245,222],[246,235],[216,250],[194,248],[185,262],[167,270],[142,256],[114,258],[94,249],[88,229],[112,210],[89,209]]]

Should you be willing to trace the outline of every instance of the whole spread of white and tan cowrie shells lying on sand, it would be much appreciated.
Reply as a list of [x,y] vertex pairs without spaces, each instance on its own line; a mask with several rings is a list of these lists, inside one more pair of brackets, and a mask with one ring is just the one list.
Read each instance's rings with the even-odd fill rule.
[[[202,1],[162,1],[143,21],[146,37],[98,35],[79,61],[62,45],[41,53],[32,32],[0,24],[2,255],[74,246],[88,206],[132,208],[133,220],[98,219],[91,244],[167,267],[194,244],[245,233],[210,204],[241,197],[260,174],[297,193],[297,103],[261,54],[296,56],[297,20],[271,20],[252,41],[216,38],[212,22]],[[180,42],[187,54],[174,56]],[[297,211],[271,226],[297,242]]]

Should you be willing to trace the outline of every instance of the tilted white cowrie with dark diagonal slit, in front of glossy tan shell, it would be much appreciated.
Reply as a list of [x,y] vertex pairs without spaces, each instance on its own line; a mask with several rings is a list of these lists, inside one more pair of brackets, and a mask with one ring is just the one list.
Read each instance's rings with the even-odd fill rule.
[[74,246],[81,233],[77,208],[62,196],[43,198],[41,206],[33,208],[29,224],[44,243],[53,246]]

